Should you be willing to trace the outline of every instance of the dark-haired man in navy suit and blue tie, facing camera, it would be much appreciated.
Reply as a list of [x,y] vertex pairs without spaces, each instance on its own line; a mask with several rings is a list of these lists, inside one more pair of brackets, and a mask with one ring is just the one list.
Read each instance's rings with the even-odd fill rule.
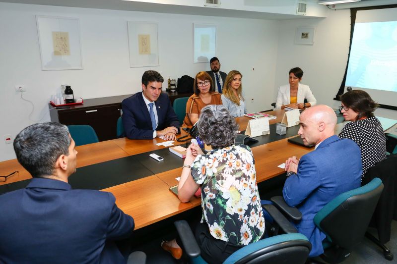
[[129,139],[152,139],[157,136],[176,139],[180,124],[170,99],[161,93],[163,82],[157,71],[145,71],[142,92],[123,100],[122,119]]

